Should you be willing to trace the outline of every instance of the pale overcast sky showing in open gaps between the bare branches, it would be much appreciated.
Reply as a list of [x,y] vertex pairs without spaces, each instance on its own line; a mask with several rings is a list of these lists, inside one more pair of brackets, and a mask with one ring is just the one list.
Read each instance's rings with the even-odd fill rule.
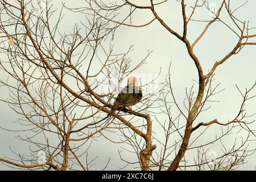
[[[118,0],[119,1],[119,0]],[[117,1],[117,2],[118,2]],[[84,1],[72,1],[67,5],[72,7],[84,5]],[[135,2],[135,1],[133,1]],[[188,1],[187,1],[188,2]],[[194,1],[193,1],[194,2]],[[209,1],[212,3],[218,4],[221,1]],[[233,6],[237,7],[242,5],[244,0],[233,1]],[[54,5],[58,7],[60,1],[54,1]],[[237,16],[242,20],[250,20],[250,26],[256,27],[256,1],[250,0],[246,6],[237,11]],[[168,1],[165,5],[159,6],[156,11],[163,19],[170,25],[174,30],[181,34],[183,22],[181,16],[180,3],[177,1]],[[67,11],[65,11],[67,12]],[[64,19],[65,23],[61,24],[63,30],[68,30],[68,25],[73,25],[78,23],[79,20],[82,20],[84,15],[79,14],[65,14]],[[134,15],[133,22],[135,24],[145,23],[152,18],[150,11],[138,11],[136,16]],[[199,10],[196,13],[196,18],[201,18],[203,20],[209,20],[209,12],[206,10]],[[226,16],[224,15],[224,19]],[[230,21],[229,21],[230,23]],[[188,39],[193,42],[195,38],[203,30],[205,23],[194,23],[191,22],[191,25],[188,27]],[[71,27],[72,28],[72,27]],[[256,30],[254,34],[256,33]],[[255,39],[254,39],[255,40]],[[213,66],[216,60],[224,57],[237,43],[237,38],[227,27],[223,26],[221,23],[214,23],[205,34],[204,38],[200,40],[199,44],[195,47],[195,53],[201,61],[204,73]],[[130,58],[133,61],[133,64],[136,64],[137,61],[141,60],[146,56],[147,51],[152,51],[151,55],[147,59],[147,64],[143,65],[138,69],[138,73],[158,73],[160,68],[162,72],[159,77],[159,81],[164,81],[164,78],[168,72],[168,66],[170,61],[172,61],[171,74],[172,74],[172,86],[174,87],[174,92],[176,93],[177,102],[180,104],[183,103],[185,97],[185,88],[189,88],[192,84],[196,83],[193,80],[197,80],[196,67],[193,64],[192,59],[189,57],[187,50],[185,49],[184,43],[181,43],[180,40],[171,35],[164,27],[160,25],[159,22],[155,21],[147,27],[134,28],[121,26],[115,32],[114,40],[111,43],[114,45],[114,52],[125,52],[130,45],[134,45],[134,51],[130,53]],[[109,43],[106,43],[108,46]],[[0,55],[2,59],[2,55]],[[97,67],[97,65],[93,65]],[[6,77],[1,73],[1,77]],[[220,65],[215,72],[215,83],[221,83],[220,89],[225,89],[223,92],[214,97],[215,100],[220,102],[214,102],[211,104],[211,107],[208,111],[201,114],[200,117],[196,120],[198,122],[207,122],[212,119],[217,118],[219,121],[226,123],[228,120],[233,119],[237,114],[237,111],[240,109],[240,104],[242,98],[236,89],[236,84],[244,91],[245,88],[249,88],[256,81],[256,46],[247,46],[243,50],[230,57],[228,61]],[[4,87],[0,87],[0,92],[2,93],[2,98],[8,97],[8,90]],[[254,93],[255,90],[254,90]],[[14,128],[18,123],[13,123],[16,121],[19,116],[14,113],[13,110],[9,108],[5,103],[1,102],[0,105],[0,114],[1,121],[0,126]],[[174,107],[175,108],[175,107]],[[256,111],[256,99],[249,101],[246,104],[247,113],[255,113]],[[174,114],[178,114],[177,110],[173,110]],[[161,116],[159,116],[161,118]],[[163,116],[164,119],[164,116]],[[256,116],[250,118],[251,120],[256,119]],[[222,127],[225,129],[225,127]],[[155,133],[158,127],[155,126]],[[254,125],[254,130],[256,126]],[[154,125],[153,125],[154,130]],[[200,130],[202,131],[202,130]],[[209,133],[204,134],[204,138],[201,138],[198,142],[205,143],[208,138],[214,138],[216,133],[220,132],[219,126],[212,126],[208,130]],[[161,132],[159,130],[159,137],[161,137]],[[183,132],[183,131],[181,131]],[[199,133],[197,133],[199,134]],[[224,143],[232,143],[235,137],[240,137],[241,134],[234,133],[229,137],[225,137]],[[10,133],[7,131],[0,130],[0,157],[14,157],[10,148],[18,152],[19,154],[29,155],[28,154],[28,144],[20,142],[18,138],[15,137],[15,133]],[[197,144],[200,144],[198,143]],[[111,156],[110,164],[107,169],[118,169],[116,163],[120,163],[118,150],[122,150],[118,144],[114,144],[113,147],[109,147],[106,140],[98,140],[92,144],[90,149],[90,154],[93,156],[99,156],[96,160],[96,166],[92,169],[102,169],[104,168],[106,162],[108,162],[109,156]],[[256,142],[250,143],[254,147]],[[108,148],[108,150],[101,150],[102,147]],[[220,146],[213,145],[210,150],[216,151],[217,155],[220,152]],[[188,153],[187,155],[193,156],[194,153]],[[196,154],[196,153],[195,153]],[[220,154],[220,153],[219,153]],[[136,159],[136,156],[130,154],[130,159]],[[256,166],[256,154],[247,158],[248,163],[244,164],[240,169],[245,170],[254,170]],[[121,167],[121,166],[120,166]],[[9,169],[0,163],[0,170]],[[134,169],[134,166],[130,166],[127,169]]]

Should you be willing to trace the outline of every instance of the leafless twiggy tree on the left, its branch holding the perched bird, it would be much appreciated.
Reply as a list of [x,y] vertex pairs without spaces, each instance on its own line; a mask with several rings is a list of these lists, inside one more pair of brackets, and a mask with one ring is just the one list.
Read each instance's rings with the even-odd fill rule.
[[[31,151],[30,158],[18,154],[21,163],[0,160],[29,169],[66,170],[80,166],[87,170],[93,161],[81,162],[80,157],[87,150],[81,152],[80,146],[89,148],[90,142],[104,135],[105,129],[126,127],[144,139],[139,158],[142,169],[148,169],[148,155],[155,146],[151,142],[150,115],[141,111],[150,108],[152,96],[145,96],[147,100],[141,101],[139,110],[122,109],[124,115],[142,118],[138,126],[131,122],[133,118],[113,114],[111,103],[123,79],[144,64],[150,52],[133,68],[128,57],[132,47],[125,53],[115,53],[112,46],[104,48],[103,42],[116,28],[109,28],[108,20],[86,15],[80,26],[76,24],[72,32],[63,33],[59,26],[64,5],[59,14],[49,2],[38,14],[36,5],[1,1],[1,54],[6,55],[5,60],[1,59],[1,68],[10,76],[1,84],[11,93],[9,99],[2,101],[22,115],[19,123],[27,129],[16,131],[26,133],[25,137],[19,135],[20,139],[38,149]],[[93,65],[98,65],[97,69],[92,69]],[[113,77],[117,82],[113,82]],[[104,93],[102,86],[109,81],[108,93]],[[38,142],[38,137],[45,141]],[[39,163],[36,152],[41,158],[40,151],[45,152],[43,157],[47,160]]]

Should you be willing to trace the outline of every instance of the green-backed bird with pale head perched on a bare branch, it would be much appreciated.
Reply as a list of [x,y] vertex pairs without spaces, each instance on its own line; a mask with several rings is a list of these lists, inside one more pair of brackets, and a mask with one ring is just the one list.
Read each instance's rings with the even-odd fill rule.
[[127,80],[127,85],[121,90],[112,107],[112,112],[115,110],[122,109],[123,107],[128,107],[137,104],[142,99],[142,88],[137,84],[136,77],[129,77]]

